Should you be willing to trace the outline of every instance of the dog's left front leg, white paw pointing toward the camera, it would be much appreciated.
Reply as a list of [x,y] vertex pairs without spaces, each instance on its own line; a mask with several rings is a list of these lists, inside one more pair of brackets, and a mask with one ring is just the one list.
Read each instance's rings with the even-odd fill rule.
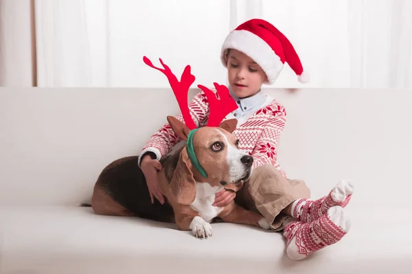
[[196,238],[209,238],[213,236],[210,223],[201,216],[188,214],[176,214],[176,225],[180,230],[190,230]]

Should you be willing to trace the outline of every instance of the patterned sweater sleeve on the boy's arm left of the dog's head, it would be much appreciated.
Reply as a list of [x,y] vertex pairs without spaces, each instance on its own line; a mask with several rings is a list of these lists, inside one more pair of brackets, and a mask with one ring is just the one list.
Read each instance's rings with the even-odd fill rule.
[[[209,115],[209,103],[205,92],[202,90],[194,96],[192,101],[189,103],[190,116],[196,127],[202,127],[207,122],[207,117]],[[176,119],[185,123],[183,115],[181,112],[177,114]],[[144,145],[141,153],[139,154],[139,167],[141,167],[142,156],[147,152],[152,152],[156,155],[157,160],[163,158],[172,151],[174,145],[181,141],[181,138],[177,136],[169,123],[165,123],[161,129],[157,130],[155,134],[150,136],[148,142]]]

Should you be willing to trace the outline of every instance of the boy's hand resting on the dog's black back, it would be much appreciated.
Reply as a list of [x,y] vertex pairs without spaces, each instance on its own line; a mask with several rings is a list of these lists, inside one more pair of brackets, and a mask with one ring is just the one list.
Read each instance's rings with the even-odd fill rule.
[[154,197],[156,197],[156,199],[163,205],[163,203],[165,203],[165,197],[157,180],[157,172],[162,168],[163,166],[161,165],[161,162],[150,158],[148,155],[141,160],[141,171],[143,171],[143,174],[146,177],[150,199],[152,199],[152,203],[155,203]]

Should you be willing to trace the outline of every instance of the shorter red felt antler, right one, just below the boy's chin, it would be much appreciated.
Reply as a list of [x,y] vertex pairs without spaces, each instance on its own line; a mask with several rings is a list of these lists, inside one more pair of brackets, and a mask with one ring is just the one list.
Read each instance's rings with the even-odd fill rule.
[[209,101],[209,120],[207,121],[207,127],[217,127],[227,114],[238,109],[238,105],[233,97],[231,97],[229,89],[217,83],[213,84],[217,94],[205,86],[198,85],[198,88],[201,88],[201,90],[205,92],[207,100]]

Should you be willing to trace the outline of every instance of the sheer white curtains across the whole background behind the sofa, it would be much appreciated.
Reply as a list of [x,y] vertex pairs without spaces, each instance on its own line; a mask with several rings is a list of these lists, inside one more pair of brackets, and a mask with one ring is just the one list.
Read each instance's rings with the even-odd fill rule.
[[197,84],[226,83],[228,32],[260,17],[291,40],[308,84],[285,66],[273,87],[412,88],[411,0],[0,0],[0,86],[168,87],[159,59]]

